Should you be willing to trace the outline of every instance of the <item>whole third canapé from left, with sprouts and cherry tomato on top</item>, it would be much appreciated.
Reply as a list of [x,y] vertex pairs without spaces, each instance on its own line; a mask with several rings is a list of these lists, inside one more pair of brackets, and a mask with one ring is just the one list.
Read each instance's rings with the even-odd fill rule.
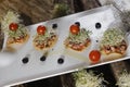
[[78,23],[73,24],[69,28],[69,35],[65,40],[66,47],[69,47],[77,51],[82,51],[91,42],[90,40],[90,30],[86,28],[80,28]]

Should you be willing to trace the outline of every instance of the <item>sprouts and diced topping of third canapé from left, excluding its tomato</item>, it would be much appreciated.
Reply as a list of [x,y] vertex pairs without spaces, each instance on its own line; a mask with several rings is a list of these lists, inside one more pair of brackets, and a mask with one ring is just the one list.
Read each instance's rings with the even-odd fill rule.
[[77,51],[82,50],[91,41],[89,35],[90,30],[82,28],[77,35],[69,33],[68,38],[66,39],[67,47],[75,49]]

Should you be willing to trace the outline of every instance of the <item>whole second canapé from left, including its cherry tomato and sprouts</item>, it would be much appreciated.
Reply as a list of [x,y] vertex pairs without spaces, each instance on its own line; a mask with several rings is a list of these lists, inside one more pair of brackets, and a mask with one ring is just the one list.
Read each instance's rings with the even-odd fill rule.
[[[40,29],[39,29],[40,28]],[[38,26],[37,28],[37,35],[36,38],[34,39],[35,46],[43,49],[43,48],[49,48],[50,46],[53,45],[53,42],[56,40],[56,32],[54,29],[46,29],[44,26]]]

